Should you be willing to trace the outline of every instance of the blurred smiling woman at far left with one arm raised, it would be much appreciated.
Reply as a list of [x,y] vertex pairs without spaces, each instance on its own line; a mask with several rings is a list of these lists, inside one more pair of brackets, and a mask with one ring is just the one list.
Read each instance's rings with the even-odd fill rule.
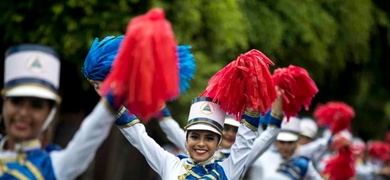
[[45,146],[61,102],[59,56],[39,44],[14,46],[5,54],[0,179],[75,179],[108,136],[113,108],[102,98],[64,149]]

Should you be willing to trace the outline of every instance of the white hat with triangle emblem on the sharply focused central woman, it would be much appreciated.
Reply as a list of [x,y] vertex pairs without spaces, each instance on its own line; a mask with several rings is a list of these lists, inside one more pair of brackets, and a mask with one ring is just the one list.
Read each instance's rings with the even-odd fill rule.
[[192,100],[187,125],[188,130],[206,130],[222,135],[225,112],[212,98],[198,97]]

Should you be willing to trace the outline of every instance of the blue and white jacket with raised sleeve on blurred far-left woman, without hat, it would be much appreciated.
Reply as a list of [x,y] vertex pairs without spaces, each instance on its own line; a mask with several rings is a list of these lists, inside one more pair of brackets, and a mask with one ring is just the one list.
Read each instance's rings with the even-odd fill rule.
[[115,113],[101,101],[62,150],[46,151],[38,139],[4,149],[0,146],[0,179],[75,179],[92,162],[97,149],[108,136]]

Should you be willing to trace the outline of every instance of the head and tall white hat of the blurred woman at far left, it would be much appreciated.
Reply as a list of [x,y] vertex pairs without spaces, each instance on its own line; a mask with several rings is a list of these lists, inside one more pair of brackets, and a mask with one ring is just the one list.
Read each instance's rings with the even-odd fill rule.
[[54,119],[61,98],[60,61],[53,49],[36,44],[14,46],[6,52],[3,121],[7,149],[36,139]]

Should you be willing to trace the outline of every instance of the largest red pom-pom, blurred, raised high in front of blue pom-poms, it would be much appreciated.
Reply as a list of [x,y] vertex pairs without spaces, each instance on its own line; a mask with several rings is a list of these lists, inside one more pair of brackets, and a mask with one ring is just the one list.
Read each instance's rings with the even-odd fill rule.
[[102,85],[142,121],[179,95],[177,43],[159,8],[132,19],[112,71]]

